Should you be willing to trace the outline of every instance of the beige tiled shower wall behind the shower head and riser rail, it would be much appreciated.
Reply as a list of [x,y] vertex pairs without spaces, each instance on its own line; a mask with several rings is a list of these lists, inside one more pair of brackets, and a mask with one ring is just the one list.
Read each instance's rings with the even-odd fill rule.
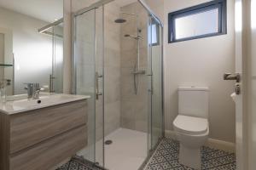
[[[121,8],[125,13],[137,14],[140,40],[140,70],[147,69],[147,19],[148,15],[139,3],[131,3]],[[121,25],[121,127],[147,132],[148,128],[148,77],[139,75],[137,94],[134,91],[134,76],[131,74],[137,62],[136,17],[123,14],[126,22]]]

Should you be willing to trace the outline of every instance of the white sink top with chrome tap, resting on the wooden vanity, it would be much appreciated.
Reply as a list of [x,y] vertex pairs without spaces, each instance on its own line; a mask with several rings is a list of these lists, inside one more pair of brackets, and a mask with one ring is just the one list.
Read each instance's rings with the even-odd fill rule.
[[71,94],[43,95],[39,99],[19,99],[0,104],[0,111],[7,114],[15,114],[22,111],[31,111],[53,105],[61,105],[80,99],[89,99],[90,96]]

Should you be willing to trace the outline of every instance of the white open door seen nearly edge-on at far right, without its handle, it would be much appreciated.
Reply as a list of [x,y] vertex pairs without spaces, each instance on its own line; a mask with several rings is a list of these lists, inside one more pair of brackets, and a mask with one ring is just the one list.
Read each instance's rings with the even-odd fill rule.
[[[254,169],[250,157],[251,92],[251,3],[252,0],[236,0],[236,71],[241,72],[241,96],[236,96],[236,169]],[[240,18],[239,18],[240,17]],[[238,28],[237,28],[238,27]],[[252,113],[251,113],[252,114]],[[253,149],[253,148],[252,148]],[[250,162],[251,161],[251,162]],[[251,165],[250,165],[251,163]]]

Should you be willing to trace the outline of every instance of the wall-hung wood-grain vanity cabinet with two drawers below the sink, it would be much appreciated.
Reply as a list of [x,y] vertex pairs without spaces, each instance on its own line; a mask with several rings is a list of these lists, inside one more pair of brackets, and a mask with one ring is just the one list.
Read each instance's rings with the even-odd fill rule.
[[47,170],[87,145],[87,100],[0,112],[0,169]]

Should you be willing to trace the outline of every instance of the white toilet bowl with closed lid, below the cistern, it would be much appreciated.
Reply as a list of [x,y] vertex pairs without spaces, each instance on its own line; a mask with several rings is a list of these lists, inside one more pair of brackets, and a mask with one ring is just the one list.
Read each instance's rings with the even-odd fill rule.
[[209,134],[207,119],[178,115],[173,127],[180,141],[179,162],[187,167],[201,169],[201,146]]

